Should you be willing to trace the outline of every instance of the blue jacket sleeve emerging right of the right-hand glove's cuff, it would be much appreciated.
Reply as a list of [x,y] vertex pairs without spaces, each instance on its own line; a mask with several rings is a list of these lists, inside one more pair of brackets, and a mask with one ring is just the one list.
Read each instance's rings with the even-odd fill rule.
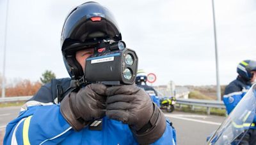
[[177,144],[176,130],[172,127],[172,123],[169,120],[166,120],[164,134],[154,144]]

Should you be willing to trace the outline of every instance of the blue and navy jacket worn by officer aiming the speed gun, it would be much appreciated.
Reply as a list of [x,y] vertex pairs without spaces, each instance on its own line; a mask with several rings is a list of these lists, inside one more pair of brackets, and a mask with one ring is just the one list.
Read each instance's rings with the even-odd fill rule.
[[[67,89],[70,79],[53,79],[28,100],[19,116],[8,123],[4,144],[138,144],[129,126],[106,116],[102,130],[88,127],[75,132],[60,113],[56,85]],[[166,120],[162,137],[154,144],[176,144],[175,129]]]

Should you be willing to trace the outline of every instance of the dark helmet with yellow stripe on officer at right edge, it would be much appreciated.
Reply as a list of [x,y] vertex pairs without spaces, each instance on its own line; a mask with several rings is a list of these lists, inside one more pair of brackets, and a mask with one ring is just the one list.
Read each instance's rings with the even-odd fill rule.
[[252,71],[256,71],[256,61],[244,60],[237,66],[237,73],[245,81],[250,81],[253,77]]

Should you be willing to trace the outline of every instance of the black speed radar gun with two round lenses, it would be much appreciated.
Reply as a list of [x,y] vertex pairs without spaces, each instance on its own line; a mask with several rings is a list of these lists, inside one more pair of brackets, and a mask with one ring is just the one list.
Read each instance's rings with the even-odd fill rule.
[[104,85],[132,84],[136,78],[138,57],[124,41],[102,40],[94,55],[86,59],[84,81]]

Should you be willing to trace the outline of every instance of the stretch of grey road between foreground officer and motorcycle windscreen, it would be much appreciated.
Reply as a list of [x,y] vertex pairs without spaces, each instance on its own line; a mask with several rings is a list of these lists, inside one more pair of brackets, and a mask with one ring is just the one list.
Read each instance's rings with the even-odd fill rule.
[[177,144],[206,144],[206,137],[216,130],[223,116],[198,115],[191,113],[164,113],[177,131]]

